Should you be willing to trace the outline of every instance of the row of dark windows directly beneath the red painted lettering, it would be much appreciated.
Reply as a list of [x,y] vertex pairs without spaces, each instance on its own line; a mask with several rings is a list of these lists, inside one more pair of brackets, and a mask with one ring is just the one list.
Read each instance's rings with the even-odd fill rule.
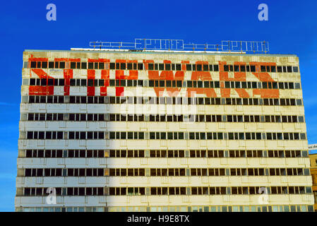
[[87,97],[87,96],[24,96],[22,102],[71,104],[128,104],[128,105],[302,105],[301,99],[210,98],[210,97]]

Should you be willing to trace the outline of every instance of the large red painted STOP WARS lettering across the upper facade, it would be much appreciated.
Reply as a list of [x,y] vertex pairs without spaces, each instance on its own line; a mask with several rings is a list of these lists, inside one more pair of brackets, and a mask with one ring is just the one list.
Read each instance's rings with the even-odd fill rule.
[[[36,61],[37,64],[35,66],[41,67],[41,62],[46,61],[48,62],[48,58],[37,58],[33,57],[33,55],[30,56],[28,59],[29,64],[31,61]],[[54,59],[54,62],[65,62],[65,69],[64,69],[64,95],[70,95],[70,80],[73,78],[73,69],[70,69],[70,63],[71,62],[80,62],[80,59],[70,59],[70,58],[56,58]],[[107,95],[107,88],[109,86],[109,59],[88,59],[88,63],[106,63],[104,65],[104,68],[100,68],[101,70],[101,79],[104,80],[104,85],[100,86],[100,95],[106,96]],[[118,81],[119,80],[119,86],[116,86],[116,96],[122,96],[124,95],[124,87],[121,87],[121,80],[137,80],[138,79],[138,70],[126,70],[127,64],[132,63],[138,63],[136,60],[126,60],[126,59],[116,59],[116,64],[119,64],[119,68],[116,66],[115,71],[115,78]],[[174,71],[174,70],[163,70],[163,71],[152,71],[148,70],[149,64],[154,64],[153,60],[143,60],[145,70],[148,71],[148,78],[150,80],[155,81],[169,81],[162,87],[160,85],[156,85],[154,87],[155,94],[157,96],[162,96],[165,90],[167,90],[167,94],[169,96],[177,96],[179,95],[179,92],[181,88],[177,87],[177,83],[175,81],[184,81],[185,71],[186,71],[186,64],[189,64],[189,61],[181,61],[181,71]],[[165,60],[163,62],[165,65],[172,64],[171,61]],[[269,75],[268,72],[261,72],[261,66],[276,66],[273,62],[250,62],[251,66],[256,66],[256,71],[251,72],[253,76],[256,76],[256,78],[261,82],[275,82],[273,78]],[[212,81],[212,77],[210,74],[210,71],[203,70],[205,65],[209,65],[208,61],[196,61],[196,71],[191,71],[191,81]],[[87,86],[87,95],[88,96],[95,96],[95,78],[96,78],[96,71],[97,69],[94,64],[93,69],[87,69],[87,75],[88,80],[92,80],[92,83],[90,81],[89,85]],[[226,61],[219,61],[219,80],[220,80],[220,94],[221,97],[230,97],[231,88],[225,87],[225,82],[227,81],[242,81],[246,82],[246,71],[241,70],[233,70],[230,69],[225,71],[225,66],[227,66]],[[234,66],[239,66],[241,69],[241,66],[246,66],[245,62],[239,62],[236,61],[233,64]],[[32,77],[32,72],[35,73],[35,75],[40,79],[48,79],[53,78],[52,76],[49,76],[43,69],[35,68],[30,69],[30,77]],[[229,73],[233,73],[232,78],[230,78]],[[54,79],[54,78],[53,78]],[[170,83],[172,82],[172,83]],[[116,83],[117,84],[117,83]],[[160,84],[160,83],[159,83]],[[167,85],[169,84],[169,85]],[[239,97],[250,97],[250,94],[246,92],[246,89],[244,88],[234,88],[234,90],[237,92]],[[279,90],[277,89],[271,89],[271,88],[256,88],[252,90],[252,95],[260,95],[262,98],[278,98],[280,97]],[[207,97],[217,97],[215,93],[214,88],[187,88],[186,95],[191,97],[193,93],[196,94],[203,94]],[[29,86],[29,94],[30,95],[54,95],[54,85],[30,85]]]

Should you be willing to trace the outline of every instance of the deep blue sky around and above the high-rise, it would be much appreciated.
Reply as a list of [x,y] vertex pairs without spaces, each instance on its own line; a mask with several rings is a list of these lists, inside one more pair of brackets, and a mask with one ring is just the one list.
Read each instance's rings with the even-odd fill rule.
[[[238,3],[239,2],[239,3]],[[49,3],[56,21],[46,20]],[[268,5],[268,21],[258,5]],[[266,40],[272,54],[297,54],[309,143],[317,143],[317,1],[2,1],[0,211],[14,210],[24,49],[88,47],[135,37],[195,43]]]

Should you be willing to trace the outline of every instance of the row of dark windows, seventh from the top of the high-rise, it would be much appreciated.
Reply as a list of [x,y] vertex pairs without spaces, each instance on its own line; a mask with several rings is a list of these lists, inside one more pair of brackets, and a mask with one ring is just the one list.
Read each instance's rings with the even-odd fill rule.
[[302,168],[33,168],[25,169],[25,177],[217,177],[217,176],[309,176]]

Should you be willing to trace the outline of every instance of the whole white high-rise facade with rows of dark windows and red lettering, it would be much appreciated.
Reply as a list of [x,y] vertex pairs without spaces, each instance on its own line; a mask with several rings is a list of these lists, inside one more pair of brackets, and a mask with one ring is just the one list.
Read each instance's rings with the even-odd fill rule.
[[16,211],[313,211],[294,55],[25,50]]

